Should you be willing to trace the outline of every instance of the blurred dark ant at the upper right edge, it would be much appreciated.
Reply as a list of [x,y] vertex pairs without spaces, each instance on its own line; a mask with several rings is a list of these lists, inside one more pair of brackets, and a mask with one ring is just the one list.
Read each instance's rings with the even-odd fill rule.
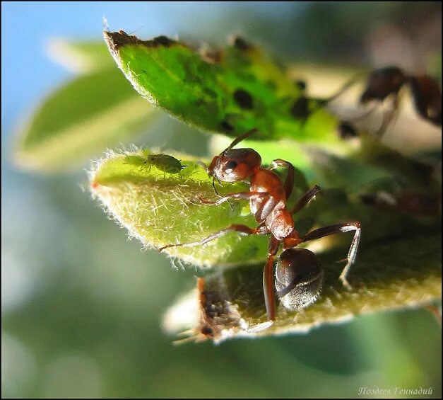
[[[349,86],[355,83],[352,79],[345,84],[340,91],[328,101],[334,100],[341,95]],[[413,76],[407,75],[398,67],[384,67],[375,69],[367,79],[365,90],[360,96],[360,104],[367,104],[370,101],[383,102],[386,98],[392,98],[392,108],[384,116],[379,135],[381,136],[386,127],[394,119],[399,105],[399,92],[401,88],[409,86],[417,113],[425,120],[434,125],[442,126],[442,90],[436,79],[428,75]],[[370,113],[374,109],[370,110]],[[363,115],[366,117],[368,114]],[[360,120],[361,118],[357,118]],[[356,119],[356,120],[357,120]],[[348,122],[339,126],[340,134],[346,137],[352,137],[353,130]]]

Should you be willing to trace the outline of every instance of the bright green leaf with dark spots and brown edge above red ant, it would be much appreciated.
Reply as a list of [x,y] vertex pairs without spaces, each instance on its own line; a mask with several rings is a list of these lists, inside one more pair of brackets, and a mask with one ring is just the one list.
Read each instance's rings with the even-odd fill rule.
[[[160,36],[104,32],[110,52],[134,88],[150,103],[201,130],[235,137],[252,127],[262,139],[291,138],[345,152],[337,119],[258,48],[238,39],[215,59]],[[307,118],[301,118],[307,101]]]

